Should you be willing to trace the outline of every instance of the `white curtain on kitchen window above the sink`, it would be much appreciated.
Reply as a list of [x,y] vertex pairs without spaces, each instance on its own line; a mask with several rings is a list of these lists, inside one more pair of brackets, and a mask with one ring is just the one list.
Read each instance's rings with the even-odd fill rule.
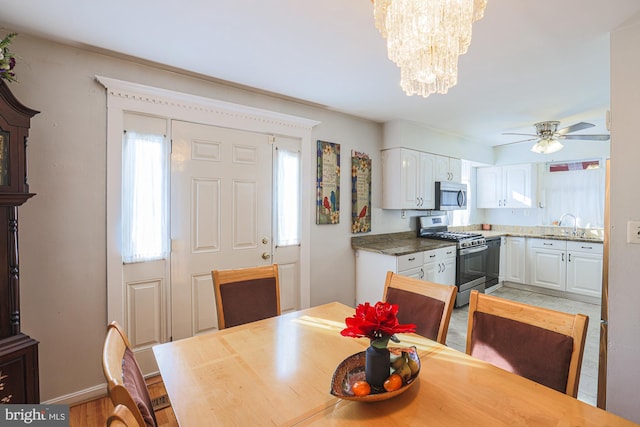
[[[569,213],[577,218],[580,228],[602,228],[604,226],[604,168],[545,171],[546,225],[559,221]],[[573,226],[567,218],[562,226]]]

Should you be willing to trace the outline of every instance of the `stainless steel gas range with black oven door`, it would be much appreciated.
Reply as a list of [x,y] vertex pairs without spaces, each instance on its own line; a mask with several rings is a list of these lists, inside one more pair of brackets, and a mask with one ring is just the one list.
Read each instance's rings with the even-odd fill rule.
[[418,237],[456,242],[456,307],[469,304],[473,289],[484,293],[488,247],[482,234],[449,231],[449,217],[436,215],[418,218]]

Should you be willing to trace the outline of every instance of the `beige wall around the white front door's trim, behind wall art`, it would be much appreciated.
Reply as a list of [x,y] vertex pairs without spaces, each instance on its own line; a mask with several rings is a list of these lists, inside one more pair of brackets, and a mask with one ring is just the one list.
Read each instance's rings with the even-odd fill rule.
[[[19,226],[22,330],[40,340],[43,401],[73,402],[104,391],[106,95],[95,75],[320,121],[313,143],[341,144],[342,216],[339,225],[311,227],[311,304],[353,304],[350,153],[369,153],[379,167],[379,124],[26,34],[12,50],[19,83],[11,89],[41,111],[32,120],[28,147],[30,189],[37,196],[20,208]],[[379,170],[373,180],[379,208]],[[306,190],[315,194],[314,182]],[[376,209],[377,223],[393,224],[387,215]]]

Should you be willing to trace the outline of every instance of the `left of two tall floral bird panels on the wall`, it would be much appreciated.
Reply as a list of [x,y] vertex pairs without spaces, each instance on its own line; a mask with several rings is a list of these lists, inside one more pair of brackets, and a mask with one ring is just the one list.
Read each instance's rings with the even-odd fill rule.
[[316,224],[340,222],[340,144],[318,141]]

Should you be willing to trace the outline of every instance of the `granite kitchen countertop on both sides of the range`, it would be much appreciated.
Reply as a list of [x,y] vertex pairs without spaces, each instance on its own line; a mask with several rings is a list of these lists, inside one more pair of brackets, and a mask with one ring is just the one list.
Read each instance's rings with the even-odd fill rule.
[[[555,235],[555,234],[537,234],[519,231],[501,231],[501,230],[474,230],[481,233],[485,238],[514,236],[529,237],[539,239],[554,239],[574,242],[593,242],[602,243],[599,237],[578,237],[571,235]],[[363,250],[369,252],[377,252],[384,255],[402,256],[416,252],[429,251],[444,247],[456,246],[453,242],[443,240],[431,240],[416,236],[415,231],[406,231],[401,233],[374,234],[366,236],[354,236],[351,238],[351,247],[355,250]]]

